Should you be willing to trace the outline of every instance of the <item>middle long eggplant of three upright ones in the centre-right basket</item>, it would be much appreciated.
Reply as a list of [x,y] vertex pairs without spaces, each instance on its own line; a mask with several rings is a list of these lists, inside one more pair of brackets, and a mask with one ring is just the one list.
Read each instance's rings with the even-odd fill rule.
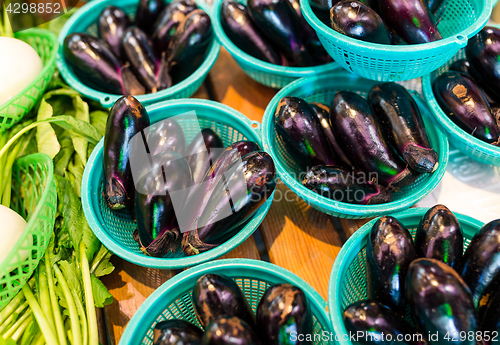
[[415,174],[382,134],[368,102],[356,93],[339,91],[330,107],[330,126],[344,152],[370,179],[386,187],[403,187]]

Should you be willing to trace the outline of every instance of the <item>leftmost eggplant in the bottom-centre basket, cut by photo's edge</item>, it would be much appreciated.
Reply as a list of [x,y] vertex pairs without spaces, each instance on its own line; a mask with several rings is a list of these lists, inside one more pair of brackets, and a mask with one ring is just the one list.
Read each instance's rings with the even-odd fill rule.
[[166,320],[156,324],[153,345],[201,345],[203,331],[185,320]]

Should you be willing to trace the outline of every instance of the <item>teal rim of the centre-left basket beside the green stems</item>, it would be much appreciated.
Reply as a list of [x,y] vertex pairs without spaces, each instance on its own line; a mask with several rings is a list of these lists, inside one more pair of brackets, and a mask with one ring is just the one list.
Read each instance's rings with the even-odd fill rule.
[[[245,137],[247,137],[249,140],[256,141],[259,146],[262,147],[260,138],[260,123],[257,121],[251,121],[238,111],[218,102],[195,98],[179,99],[146,106],[146,110],[150,115],[155,111],[163,111],[162,116],[158,116],[158,120],[163,120],[182,113],[176,112],[176,109],[185,108],[186,106],[192,106],[193,109],[204,108],[206,110],[210,110],[214,114],[210,116],[211,120],[225,123],[228,126],[235,127],[234,124],[236,123],[240,128],[244,128],[247,130],[246,132],[242,132]],[[217,119],[217,115],[215,114],[219,114],[219,116],[223,114],[225,119]],[[153,115],[152,117],[156,116]],[[231,124],[231,122],[233,124]],[[152,121],[152,123],[154,123],[154,121]],[[252,125],[254,127],[252,127]],[[274,192],[268,198],[268,200],[256,211],[249,223],[247,223],[245,227],[243,227],[243,229],[241,229],[235,236],[233,236],[225,243],[217,246],[216,248],[213,248],[204,253],[182,258],[156,258],[146,256],[145,254],[137,254],[131,252],[120,243],[116,242],[107,233],[107,231],[102,228],[102,224],[99,220],[100,214],[97,212],[97,210],[99,210],[99,207],[93,204],[92,201],[92,198],[93,196],[95,197],[95,195],[92,195],[91,189],[95,188],[98,183],[98,181],[96,181],[95,171],[96,169],[99,169],[98,165],[102,166],[103,143],[104,138],[102,138],[95,147],[83,172],[81,189],[83,211],[91,229],[94,231],[97,238],[99,238],[99,240],[106,246],[106,248],[108,248],[124,260],[132,262],[136,265],[160,269],[173,269],[190,267],[198,265],[205,261],[214,260],[243,243],[255,231],[255,229],[257,229],[260,223],[262,223],[265,215],[271,207],[271,203],[274,198]]]

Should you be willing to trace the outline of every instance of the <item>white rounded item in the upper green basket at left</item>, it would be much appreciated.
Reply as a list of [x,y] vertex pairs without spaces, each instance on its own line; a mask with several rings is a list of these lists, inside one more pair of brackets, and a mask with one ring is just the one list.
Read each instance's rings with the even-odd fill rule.
[[29,44],[0,37],[0,106],[35,80],[42,69],[42,59]]

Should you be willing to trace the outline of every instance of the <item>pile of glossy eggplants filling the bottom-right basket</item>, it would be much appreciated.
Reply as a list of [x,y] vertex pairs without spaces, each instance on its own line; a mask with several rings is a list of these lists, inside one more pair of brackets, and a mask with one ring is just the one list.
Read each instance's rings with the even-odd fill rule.
[[[462,227],[444,205],[427,211],[414,239],[396,218],[381,217],[366,244],[366,273],[368,300],[343,314],[349,332],[373,336],[360,343],[499,341],[500,219],[484,225],[464,252]],[[414,326],[403,319],[407,310]]]

